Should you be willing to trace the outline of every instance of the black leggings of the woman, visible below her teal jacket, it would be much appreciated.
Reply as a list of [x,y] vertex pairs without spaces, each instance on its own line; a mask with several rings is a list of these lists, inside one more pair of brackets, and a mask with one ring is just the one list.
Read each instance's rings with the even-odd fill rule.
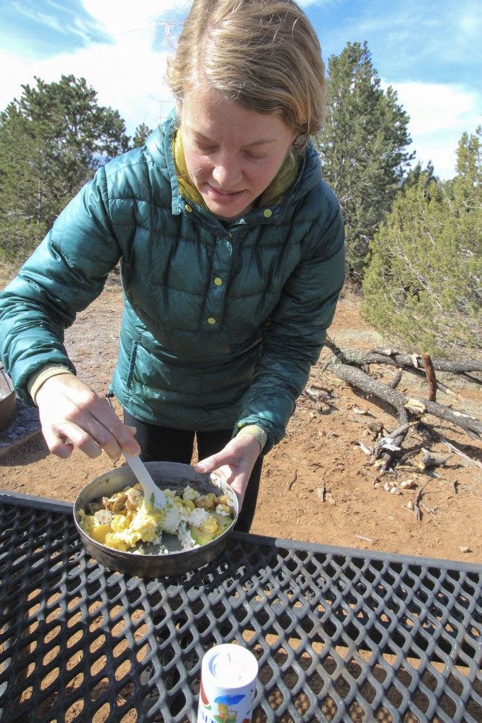
[[[198,443],[198,458],[205,459],[221,451],[232,437],[231,429],[216,432],[195,432],[186,429],[158,427],[157,424],[140,422],[124,410],[124,423],[135,427],[136,440],[142,450],[144,462],[180,462],[190,464],[193,458],[194,440]],[[263,458],[258,457],[246,489],[240,515],[234,529],[249,532],[255,515]]]

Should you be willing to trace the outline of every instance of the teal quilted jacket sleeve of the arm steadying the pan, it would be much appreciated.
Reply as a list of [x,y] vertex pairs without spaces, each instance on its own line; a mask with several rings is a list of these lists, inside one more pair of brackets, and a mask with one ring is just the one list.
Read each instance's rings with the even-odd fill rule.
[[312,234],[318,239],[307,243],[310,253],[284,286],[234,429],[262,427],[268,433],[263,454],[284,437],[310,367],[326,341],[344,283],[344,224],[334,196],[328,223]]

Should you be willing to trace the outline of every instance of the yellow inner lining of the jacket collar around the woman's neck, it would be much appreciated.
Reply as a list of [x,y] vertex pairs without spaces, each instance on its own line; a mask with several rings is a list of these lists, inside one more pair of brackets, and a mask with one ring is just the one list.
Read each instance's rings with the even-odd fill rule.
[[[174,158],[174,167],[176,168],[177,182],[179,184],[179,193],[185,198],[193,201],[201,208],[206,208],[198,189],[195,187],[189,172],[187,171],[186,159],[184,155],[184,147],[182,145],[181,129],[177,129],[172,137],[172,157]],[[301,156],[298,154],[287,153],[279,168],[278,173],[274,176],[269,186],[261,194],[258,206],[276,205],[280,203],[283,195],[295,183],[296,176],[300,170]]]

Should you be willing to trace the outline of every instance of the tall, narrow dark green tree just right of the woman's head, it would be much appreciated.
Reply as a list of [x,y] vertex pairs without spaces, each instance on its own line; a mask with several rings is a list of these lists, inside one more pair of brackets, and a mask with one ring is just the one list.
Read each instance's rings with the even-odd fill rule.
[[413,158],[408,121],[395,90],[382,89],[366,42],[347,43],[331,56],[326,123],[316,146],[324,179],[342,207],[347,271],[355,281],[363,278],[368,245]]

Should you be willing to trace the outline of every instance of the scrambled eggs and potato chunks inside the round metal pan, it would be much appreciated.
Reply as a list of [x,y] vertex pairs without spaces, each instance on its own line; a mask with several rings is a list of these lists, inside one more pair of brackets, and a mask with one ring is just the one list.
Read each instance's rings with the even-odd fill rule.
[[[179,524],[174,532],[182,549],[194,549],[207,544],[232,524],[232,510],[225,495],[214,493],[200,495],[193,487],[185,487],[182,497],[171,489],[165,489],[179,510]],[[140,484],[126,487],[111,497],[101,497],[88,502],[86,510],[80,510],[79,524],[85,534],[100,544],[122,552],[143,554],[142,543],[160,546],[161,554],[168,553],[162,544],[166,522],[165,510],[154,508],[145,500]]]

